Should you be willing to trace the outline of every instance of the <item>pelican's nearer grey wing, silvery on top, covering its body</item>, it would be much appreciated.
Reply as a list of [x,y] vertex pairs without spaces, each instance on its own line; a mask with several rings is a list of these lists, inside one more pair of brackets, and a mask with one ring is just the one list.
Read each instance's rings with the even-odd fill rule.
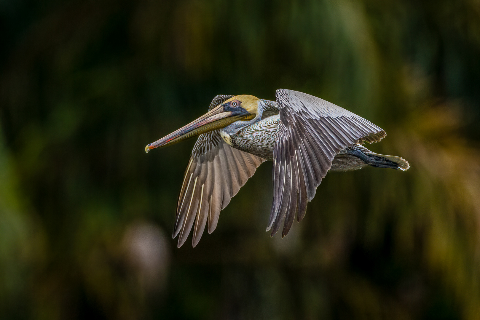
[[332,166],[335,155],[354,143],[377,142],[385,131],[328,101],[298,91],[278,89],[280,114],[274,147],[274,201],[267,231],[284,237]]

